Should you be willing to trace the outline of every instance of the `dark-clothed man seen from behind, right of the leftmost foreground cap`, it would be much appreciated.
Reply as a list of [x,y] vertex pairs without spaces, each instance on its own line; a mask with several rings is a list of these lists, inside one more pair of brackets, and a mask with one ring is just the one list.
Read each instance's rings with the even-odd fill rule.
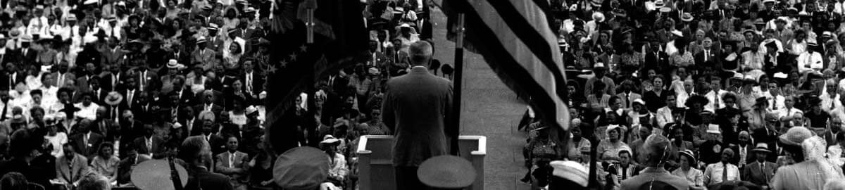
[[179,148],[179,159],[184,160],[188,165],[188,170],[194,171],[191,180],[199,182],[188,182],[188,184],[199,184],[199,187],[186,188],[201,188],[205,190],[233,190],[232,183],[229,182],[229,177],[219,173],[210,171],[210,166],[213,160],[205,158],[210,157],[204,149],[208,149],[209,144],[198,136],[189,137],[185,139],[182,146]]

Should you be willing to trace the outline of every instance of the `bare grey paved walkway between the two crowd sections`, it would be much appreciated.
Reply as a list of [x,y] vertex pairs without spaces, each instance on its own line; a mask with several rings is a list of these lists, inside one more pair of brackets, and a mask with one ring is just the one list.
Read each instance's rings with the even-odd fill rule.
[[[446,40],[446,16],[432,8],[432,20],[434,58],[455,66],[455,43]],[[487,137],[484,189],[530,189],[519,181],[527,171],[522,156],[526,133],[516,129],[526,103],[517,100],[513,90],[493,73],[481,55],[464,51],[463,61],[461,135]]]

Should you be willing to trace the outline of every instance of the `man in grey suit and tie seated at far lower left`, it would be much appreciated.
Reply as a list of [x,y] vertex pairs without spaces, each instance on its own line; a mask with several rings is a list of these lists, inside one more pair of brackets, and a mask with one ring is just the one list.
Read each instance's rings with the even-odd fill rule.
[[56,177],[65,186],[74,187],[90,171],[88,158],[85,158],[85,155],[76,153],[74,145],[70,143],[63,144],[62,146],[64,155],[56,158]]

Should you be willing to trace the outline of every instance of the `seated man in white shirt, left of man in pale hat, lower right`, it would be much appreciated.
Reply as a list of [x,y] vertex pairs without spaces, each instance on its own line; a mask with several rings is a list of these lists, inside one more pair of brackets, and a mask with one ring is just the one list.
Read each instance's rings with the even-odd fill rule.
[[739,167],[729,163],[733,159],[733,149],[722,149],[722,161],[707,165],[704,171],[704,183],[707,186],[728,181],[739,181]]

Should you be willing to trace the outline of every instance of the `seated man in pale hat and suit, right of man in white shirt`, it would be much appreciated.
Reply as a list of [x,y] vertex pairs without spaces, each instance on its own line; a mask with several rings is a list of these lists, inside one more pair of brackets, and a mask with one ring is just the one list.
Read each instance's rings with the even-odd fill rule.
[[766,157],[771,153],[769,145],[766,143],[757,143],[754,153],[757,159],[748,164],[742,172],[742,179],[744,181],[753,182],[761,187],[768,187],[771,177],[775,176],[777,171],[777,164],[766,161]]

